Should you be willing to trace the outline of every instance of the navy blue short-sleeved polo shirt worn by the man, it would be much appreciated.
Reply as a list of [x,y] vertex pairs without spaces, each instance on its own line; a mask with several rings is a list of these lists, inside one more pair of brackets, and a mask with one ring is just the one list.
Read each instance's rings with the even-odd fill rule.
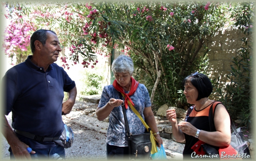
[[[60,136],[64,92],[75,87],[62,67],[50,64],[47,71],[33,64],[28,56],[25,62],[10,68],[4,75],[7,102],[4,114],[12,111],[12,127],[45,137]],[[54,142],[37,142],[17,134],[32,149],[50,148]]]

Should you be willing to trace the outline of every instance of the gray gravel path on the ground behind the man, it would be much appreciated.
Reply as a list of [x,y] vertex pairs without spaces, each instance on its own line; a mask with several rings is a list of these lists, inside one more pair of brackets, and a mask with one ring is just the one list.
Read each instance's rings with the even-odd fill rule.
[[[94,103],[84,103],[76,101],[72,111],[84,108],[96,107]],[[11,125],[11,113],[7,116],[8,122]],[[70,125],[74,132],[74,143],[71,148],[65,149],[66,159],[75,160],[106,160],[106,134],[99,133],[95,130],[88,129],[83,125],[73,122],[67,116],[63,116],[63,122]],[[1,160],[10,160],[10,153],[8,151],[9,144],[5,140],[3,134],[2,138],[2,157]]]

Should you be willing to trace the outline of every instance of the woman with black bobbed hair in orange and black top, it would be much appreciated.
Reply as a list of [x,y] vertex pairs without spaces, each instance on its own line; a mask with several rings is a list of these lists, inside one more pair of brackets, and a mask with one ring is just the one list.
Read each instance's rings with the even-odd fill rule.
[[[166,111],[166,117],[172,124],[174,138],[178,142],[186,141],[183,158],[195,157],[191,149],[199,140],[212,145],[216,150],[222,146],[229,146],[231,141],[230,117],[225,106],[208,97],[212,93],[210,79],[201,73],[195,72],[182,81],[187,102],[194,106],[189,107],[184,121],[177,123],[174,109]],[[217,105],[213,110],[216,131],[210,132],[208,113],[211,105]],[[214,106],[213,106],[214,107]]]

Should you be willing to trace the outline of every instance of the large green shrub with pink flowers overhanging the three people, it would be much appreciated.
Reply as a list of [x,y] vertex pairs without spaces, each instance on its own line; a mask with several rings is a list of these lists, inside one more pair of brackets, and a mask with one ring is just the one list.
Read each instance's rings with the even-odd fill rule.
[[[148,90],[151,92],[156,87],[156,102],[177,107],[187,105],[187,102],[177,101],[180,98],[177,91],[183,89],[181,80],[206,60],[198,57],[198,53],[207,36],[231,21],[230,7],[226,3],[209,1],[94,1],[64,7],[63,4],[37,4],[26,8],[32,8],[33,14],[37,14],[35,24],[42,23],[39,26],[58,31],[61,44],[71,51],[67,57],[72,62],[78,62],[78,57],[82,56],[83,66],[94,68],[97,63],[94,54],[109,56],[113,48],[124,51],[133,58],[136,71],[144,76],[141,81],[145,81]],[[30,15],[29,9],[23,11],[19,12],[20,17]],[[241,24],[244,28],[253,25],[244,24]],[[159,71],[161,74],[157,76]],[[155,85],[157,80],[159,83]]]

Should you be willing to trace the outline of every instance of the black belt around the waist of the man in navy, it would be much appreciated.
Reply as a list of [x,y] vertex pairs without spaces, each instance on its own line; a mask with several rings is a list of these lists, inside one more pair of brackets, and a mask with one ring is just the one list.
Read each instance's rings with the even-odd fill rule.
[[20,130],[14,130],[16,133],[25,136],[27,138],[31,138],[35,141],[41,141],[41,142],[53,142],[54,140],[59,140],[60,136],[57,137],[43,137],[43,136],[38,136],[38,135],[34,135],[31,134],[29,132],[25,132],[25,131],[20,131]]

